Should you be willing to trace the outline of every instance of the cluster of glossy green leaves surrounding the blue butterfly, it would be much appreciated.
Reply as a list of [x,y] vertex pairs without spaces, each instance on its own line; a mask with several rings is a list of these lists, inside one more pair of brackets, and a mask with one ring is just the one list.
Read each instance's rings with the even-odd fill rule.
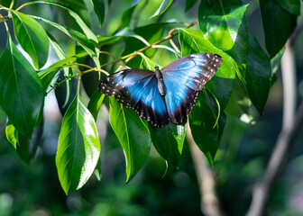
[[[197,0],[187,0],[186,11],[196,2]],[[90,1],[100,27],[105,22],[106,7],[111,7],[111,3],[110,0]],[[41,130],[44,97],[53,89],[52,83],[57,79],[56,75],[64,74],[63,81],[58,81],[55,85],[65,83],[66,97],[62,107],[68,107],[63,111],[56,155],[60,184],[65,193],[81,188],[94,172],[101,150],[96,117],[104,101],[108,102],[111,126],[124,149],[126,182],[142,168],[152,144],[170,166],[178,166],[188,123],[193,139],[212,165],[225,127],[225,112],[241,117],[244,113],[247,114],[250,103],[253,103],[256,110],[263,113],[274,80],[271,68],[276,65],[271,64],[280,62],[283,46],[296,25],[299,1],[260,0],[265,45],[269,55],[248,29],[245,14],[248,4],[243,4],[240,0],[202,0],[197,11],[199,29],[189,29],[194,26],[193,22],[185,28],[176,28],[171,33],[171,26],[176,26],[181,21],[160,23],[156,20],[170,12],[171,3],[172,0],[161,2],[150,17],[153,23],[132,28],[134,10],[138,5],[144,4],[133,1],[133,5],[122,14],[119,29],[106,36],[96,35],[90,30],[81,15],[80,9],[86,8],[82,1],[65,1],[64,4],[36,1],[23,4],[17,9],[14,4],[7,4],[7,1],[0,5],[0,10],[7,13],[0,16],[0,22],[5,25],[8,35],[6,49],[0,58],[0,105],[8,117],[6,138],[25,161],[29,161],[35,153],[37,138],[33,134]],[[61,10],[64,17],[72,21],[70,26],[20,12],[23,7],[35,4],[47,4]],[[277,16],[279,25],[272,24],[278,20]],[[32,64],[16,48],[6,25],[8,20],[12,20],[14,37],[29,54]],[[56,37],[41,23],[68,35],[77,44],[77,51],[67,56]],[[170,33],[165,37],[167,31]],[[171,46],[158,45],[177,34],[179,46],[173,42]],[[117,53],[119,56],[115,56],[115,60],[110,61],[108,56],[100,55],[109,54],[113,47],[121,46],[121,43],[124,44],[124,51]],[[41,69],[47,61],[50,46],[60,60]],[[115,72],[117,68],[112,66],[118,61],[126,59],[124,64],[128,67],[152,69],[155,66],[152,58],[158,49],[172,51],[179,56],[212,52],[223,58],[223,64],[216,75],[207,83],[206,89],[199,93],[197,103],[188,115],[188,122],[180,125],[169,123],[162,128],[152,127],[114,98],[104,100],[105,95],[97,90],[97,78],[107,74],[106,71]],[[83,63],[83,58],[86,57],[92,59],[93,67]],[[101,65],[100,61],[106,63]],[[88,80],[88,83],[85,76],[95,71],[101,71],[102,75],[95,76],[96,81]],[[75,95],[70,94],[73,77],[78,77]],[[90,97],[87,105],[81,100],[81,82]]]

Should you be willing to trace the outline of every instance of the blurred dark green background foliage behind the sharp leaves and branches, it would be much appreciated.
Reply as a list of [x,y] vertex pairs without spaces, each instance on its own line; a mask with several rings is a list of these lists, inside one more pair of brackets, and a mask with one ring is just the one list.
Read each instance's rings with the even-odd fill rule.
[[[99,29],[96,14],[92,13],[88,0],[78,1],[73,8],[86,21],[92,31],[108,35],[118,31],[122,14],[131,8],[133,1],[113,0],[106,14],[105,25]],[[6,2],[6,3],[5,3]],[[10,1],[1,0],[1,4]],[[19,3],[21,3],[20,1]],[[62,0],[64,2],[64,0]],[[178,19],[191,23],[197,16],[197,5],[184,12],[186,1],[174,1],[170,9],[156,18],[159,22]],[[261,16],[256,1],[250,3],[247,11],[249,28],[256,35],[262,47]],[[133,11],[131,26],[154,23],[146,19],[151,16],[160,0],[142,1]],[[43,14],[50,20],[69,23],[68,17],[47,5],[32,5],[27,14]],[[138,13],[138,12],[141,13]],[[298,19],[302,19],[299,17]],[[298,23],[300,23],[299,21]],[[71,23],[69,23],[71,26]],[[5,49],[3,37],[5,26],[0,25],[0,51]],[[49,28],[49,26],[45,26]],[[76,28],[76,27],[75,27]],[[74,51],[75,44],[59,31],[50,30],[65,49]],[[167,32],[166,32],[167,33]],[[294,46],[297,63],[298,97],[303,96],[303,35]],[[176,39],[177,40],[177,37]],[[123,47],[124,44],[121,44]],[[121,47],[112,48],[113,53],[121,52]],[[158,61],[161,62],[159,53]],[[167,59],[167,58],[165,58]],[[254,123],[244,123],[234,116],[227,117],[224,136],[217,152],[214,172],[216,189],[225,215],[243,215],[251,202],[253,184],[259,180],[267,165],[281,126],[282,89],[280,72],[271,88],[263,116],[251,110]],[[85,94],[85,93],[83,93]],[[12,144],[5,138],[6,116],[0,110],[0,216],[8,215],[104,215],[104,216],[147,216],[147,215],[202,215],[197,177],[190,157],[188,145],[184,150],[178,170],[169,169],[165,173],[165,163],[154,149],[146,165],[129,184],[124,184],[124,154],[114,131],[106,121],[106,109],[99,113],[97,126],[102,140],[101,180],[93,175],[78,192],[65,195],[61,189],[55,167],[55,153],[60,131],[61,115],[54,94],[47,96],[44,110],[43,137],[36,157],[27,165],[18,156]],[[303,130],[290,152],[287,168],[275,184],[267,208],[267,215],[303,214]]]

